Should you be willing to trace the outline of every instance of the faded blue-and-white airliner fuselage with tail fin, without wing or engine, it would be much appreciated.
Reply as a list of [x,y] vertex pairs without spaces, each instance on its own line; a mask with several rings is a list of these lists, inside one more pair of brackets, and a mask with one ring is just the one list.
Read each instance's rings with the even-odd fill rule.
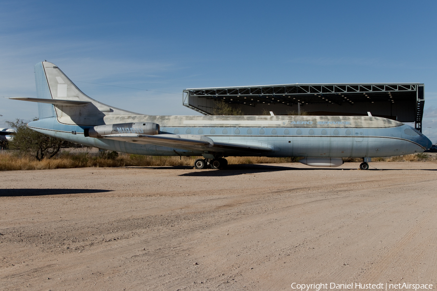
[[[46,78],[46,81],[44,80]],[[37,97],[70,100],[72,105],[40,107],[42,119],[29,123],[39,132],[86,146],[141,155],[199,156],[208,151],[139,144],[84,136],[94,126],[149,122],[159,134],[199,135],[213,142],[269,148],[269,157],[385,157],[422,152],[431,142],[403,123],[373,116],[155,116],[118,109],[86,96],[54,64],[35,65]],[[49,89],[50,88],[50,89]],[[32,100],[29,100],[32,101]],[[86,104],[74,105],[74,102]],[[52,106],[50,109],[47,106]],[[223,156],[252,156],[253,152],[229,149]]]

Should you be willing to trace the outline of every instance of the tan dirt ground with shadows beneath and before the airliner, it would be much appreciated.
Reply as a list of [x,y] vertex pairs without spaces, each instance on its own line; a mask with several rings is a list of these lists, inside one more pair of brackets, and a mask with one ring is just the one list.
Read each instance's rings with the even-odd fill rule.
[[0,290],[436,289],[437,162],[358,167],[1,172]]

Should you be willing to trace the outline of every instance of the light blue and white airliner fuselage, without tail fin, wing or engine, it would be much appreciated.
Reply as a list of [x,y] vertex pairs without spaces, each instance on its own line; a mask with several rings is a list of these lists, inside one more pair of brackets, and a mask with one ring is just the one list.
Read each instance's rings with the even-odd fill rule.
[[[199,135],[209,137],[214,142],[267,146],[271,151],[263,155],[268,157],[387,157],[422,152],[428,146],[427,138],[412,127],[368,116],[136,115],[123,118],[123,122],[126,121],[159,124],[159,134]],[[31,122],[29,127],[86,146],[132,154],[196,156],[204,153],[204,150],[186,150],[177,146],[84,137],[84,129],[89,126],[61,124],[55,117]],[[122,128],[120,133],[142,132],[134,128]],[[228,155],[232,154],[224,154]],[[244,155],[238,153],[238,156]],[[253,155],[253,152],[246,154]]]

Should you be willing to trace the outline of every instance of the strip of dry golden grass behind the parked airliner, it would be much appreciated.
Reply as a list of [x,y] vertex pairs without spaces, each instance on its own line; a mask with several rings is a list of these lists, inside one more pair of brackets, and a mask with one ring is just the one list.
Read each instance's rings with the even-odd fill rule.
[[[99,155],[63,152],[54,159],[37,161],[32,157],[17,157],[12,154],[0,155],[0,171],[42,170],[82,167],[126,167],[126,166],[192,166],[199,157],[142,156],[104,152]],[[299,158],[228,157],[229,164],[284,163],[298,162]],[[427,154],[414,154],[390,158],[374,158],[373,162],[414,162],[428,159]],[[345,162],[361,162],[348,158]]]

